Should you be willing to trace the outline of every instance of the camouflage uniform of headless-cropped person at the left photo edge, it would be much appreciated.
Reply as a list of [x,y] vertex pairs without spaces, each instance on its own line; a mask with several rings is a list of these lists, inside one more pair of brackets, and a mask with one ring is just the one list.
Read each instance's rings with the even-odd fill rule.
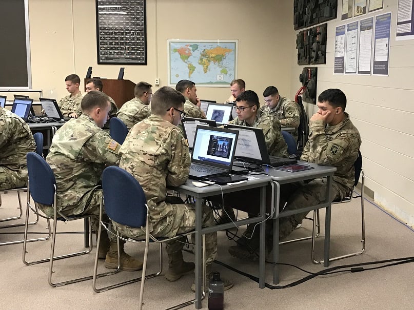
[[36,143],[27,123],[0,107],[0,190],[26,185],[26,154],[35,149]]

